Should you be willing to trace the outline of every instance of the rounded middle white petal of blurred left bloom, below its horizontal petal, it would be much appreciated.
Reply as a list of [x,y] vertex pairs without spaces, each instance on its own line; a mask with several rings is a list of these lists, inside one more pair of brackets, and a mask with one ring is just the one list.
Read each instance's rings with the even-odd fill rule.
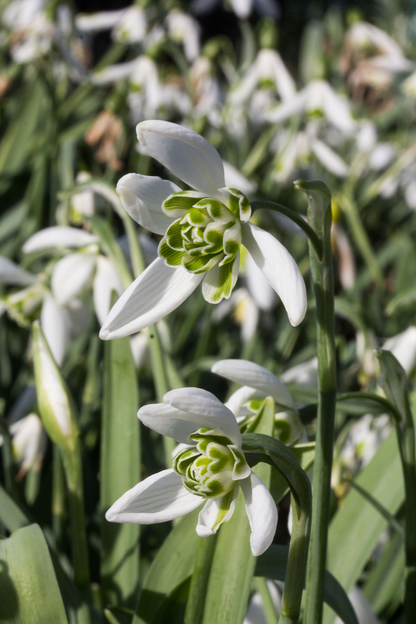
[[51,288],[59,305],[65,305],[86,286],[96,264],[87,253],[71,253],[58,260],[52,271]]

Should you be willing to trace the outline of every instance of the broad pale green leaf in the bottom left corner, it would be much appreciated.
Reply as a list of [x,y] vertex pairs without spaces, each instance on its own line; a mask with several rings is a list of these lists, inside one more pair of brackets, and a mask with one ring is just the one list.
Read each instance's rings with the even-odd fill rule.
[[37,524],[0,541],[0,622],[67,624],[42,531]]

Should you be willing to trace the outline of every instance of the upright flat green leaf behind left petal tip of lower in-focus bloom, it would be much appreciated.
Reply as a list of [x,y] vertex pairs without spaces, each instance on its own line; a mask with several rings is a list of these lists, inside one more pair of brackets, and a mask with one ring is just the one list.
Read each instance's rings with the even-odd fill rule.
[[100,507],[104,603],[134,604],[139,582],[139,525],[113,524],[107,509],[140,480],[139,397],[128,338],[104,346]]

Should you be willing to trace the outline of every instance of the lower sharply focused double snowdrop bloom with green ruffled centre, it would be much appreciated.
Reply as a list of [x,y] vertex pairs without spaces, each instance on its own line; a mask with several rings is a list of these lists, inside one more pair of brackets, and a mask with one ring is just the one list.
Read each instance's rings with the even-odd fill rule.
[[251,527],[255,557],[272,543],[277,509],[269,490],[250,470],[241,450],[234,414],[210,392],[181,388],[167,392],[163,403],[141,407],[139,419],[176,439],[180,447],[171,469],[147,477],[107,511],[110,522],[154,524],[202,508],[197,534],[213,535],[230,519],[241,487]]

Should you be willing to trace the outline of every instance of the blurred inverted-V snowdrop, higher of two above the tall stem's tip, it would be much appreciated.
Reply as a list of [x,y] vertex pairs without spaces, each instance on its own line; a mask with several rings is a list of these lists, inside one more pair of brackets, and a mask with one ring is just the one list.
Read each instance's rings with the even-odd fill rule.
[[335,93],[325,80],[311,80],[293,97],[270,109],[267,120],[278,123],[301,114],[322,114],[345,135],[352,134],[357,127],[348,100]]

